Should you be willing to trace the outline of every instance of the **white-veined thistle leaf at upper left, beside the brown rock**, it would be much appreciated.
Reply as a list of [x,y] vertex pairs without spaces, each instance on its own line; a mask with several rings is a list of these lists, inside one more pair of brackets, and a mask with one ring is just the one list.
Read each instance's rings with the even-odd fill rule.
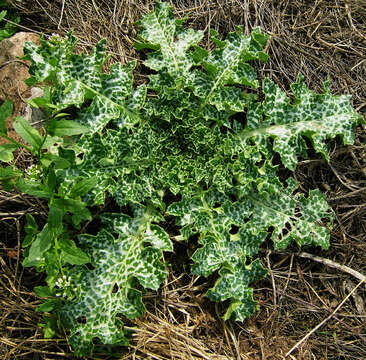
[[136,110],[142,105],[144,91],[131,94],[136,62],[126,66],[114,64],[110,74],[102,74],[106,60],[105,41],[100,41],[90,55],[74,54],[75,44],[76,39],[69,34],[66,39],[53,36],[48,41],[41,40],[38,48],[31,43],[24,48],[25,59],[32,60],[30,74],[38,82],[50,80],[57,83],[55,110],[70,106],[80,108],[86,100],[90,101],[90,105],[79,112],[76,122],[55,122],[55,133],[60,136],[82,134],[87,129],[97,133],[111,120],[127,127],[138,123],[140,117]]

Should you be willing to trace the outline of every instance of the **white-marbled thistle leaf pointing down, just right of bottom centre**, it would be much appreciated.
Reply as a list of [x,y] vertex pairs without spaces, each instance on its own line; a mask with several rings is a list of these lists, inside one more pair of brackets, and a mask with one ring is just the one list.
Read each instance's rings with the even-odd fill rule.
[[[167,211],[180,216],[181,225],[191,227],[188,236],[199,234],[202,247],[192,255],[192,272],[207,277],[219,270],[220,277],[207,296],[213,301],[230,300],[224,319],[242,321],[251,315],[257,305],[249,285],[264,277],[266,270],[258,261],[247,266],[245,259],[258,252],[267,236],[266,228],[254,231],[248,227],[251,204],[232,203],[228,196],[212,189],[200,198],[173,203]],[[237,227],[235,232],[233,226]]]

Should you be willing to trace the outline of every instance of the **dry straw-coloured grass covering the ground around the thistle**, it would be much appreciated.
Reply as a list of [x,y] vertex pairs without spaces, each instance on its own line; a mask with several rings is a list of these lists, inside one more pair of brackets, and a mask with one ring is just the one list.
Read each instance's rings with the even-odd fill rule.
[[[74,30],[80,49],[108,39],[111,61],[136,58],[131,47],[134,26],[153,1],[26,0],[21,5],[26,27],[46,34]],[[224,34],[242,25],[249,33],[261,26],[271,34],[270,61],[257,64],[260,76],[274,78],[288,90],[298,72],[321,90],[330,79],[335,93],[352,95],[366,109],[366,3],[360,0],[177,0],[176,14],[190,13],[188,24]],[[29,10],[31,9],[31,10]],[[204,45],[210,47],[209,35]],[[336,215],[329,251],[316,255],[366,274],[366,134],[358,128],[353,146],[333,142],[330,163],[313,155],[299,163],[295,177],[304,191],[320,188]],[[18,251],[25,212],[41,204],[17,194],[0,193],[0,356],[4,359],[72,358],[65,340],[45,340],[34,312],[31,292],[40,276],[20,266]],[[344,272],[295,254],[261,254],[270,276],[256,284],[261,309],[242,324],[222,322],[221,305],[202,295],[201,279],[179,275],[173,266],[158,295],[147,294],[144,318],[128,324],[138,329],[128,349],[95,359],[365,359],[365,285]],[[314,252],[316,249],[307,249]],[[184,244],[179,245],[186,254]],[[182,255],[183,257],[186,255]],[[182,261],[183,262],[183,261]],[[183,268],[184,270],[184,268]],[[348,296],[348,297],[347,297]],[[342,301],[344,303],[342,304]],[[339,306],[342,305],[342,306]],[[327,321],[325,321],[327,320]],[[322,326],[312,332],[319,324]],[[309,335],[309,336],[308,336]],[[308,336],[308,337],[307,337]],[[299,345],[286,357],[286,354]]]

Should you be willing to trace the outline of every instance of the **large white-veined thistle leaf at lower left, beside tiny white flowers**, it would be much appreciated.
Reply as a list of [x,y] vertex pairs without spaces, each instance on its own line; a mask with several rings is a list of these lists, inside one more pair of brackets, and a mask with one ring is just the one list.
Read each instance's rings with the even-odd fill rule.
[[[144,214],[135,219],[116,214],[107,220],[118,238],[106,230],[79,237],[95,269],[80,267],[72,284],[77,288],[75,300],[66,303],[61,312],[79,355],[92,351],[95,337],[104,344],[127,344],[117,317],[123,314],[134,318],[145,311],[136,281],[145,288],[157,289],[166,276],[161,251],[144,246]],[[80,318],[86,319],[85,323],[78,322]]]

